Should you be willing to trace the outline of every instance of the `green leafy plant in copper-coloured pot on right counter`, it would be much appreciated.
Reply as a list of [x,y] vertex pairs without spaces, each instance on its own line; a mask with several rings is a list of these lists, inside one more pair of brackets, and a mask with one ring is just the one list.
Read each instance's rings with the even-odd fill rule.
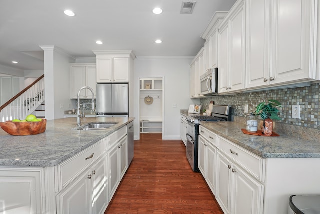
[[260,115],[263,119],[262,134],[272,135],[273,120],[281,120],[278,116],[279,109],[282,107],[281,103],[277,100],[268,100],[269,102],[261,102],[256,106],[255,115]]

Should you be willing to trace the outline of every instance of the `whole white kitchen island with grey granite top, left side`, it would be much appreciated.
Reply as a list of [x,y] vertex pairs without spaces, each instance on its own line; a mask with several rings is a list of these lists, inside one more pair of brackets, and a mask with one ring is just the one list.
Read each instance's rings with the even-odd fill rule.
[[44,133],[27,136],[0,129],[0,212],[104,213],[128,167],[133,120],[83,118],[115,124],[90,131],[77,130],[75,118],[48,120]]

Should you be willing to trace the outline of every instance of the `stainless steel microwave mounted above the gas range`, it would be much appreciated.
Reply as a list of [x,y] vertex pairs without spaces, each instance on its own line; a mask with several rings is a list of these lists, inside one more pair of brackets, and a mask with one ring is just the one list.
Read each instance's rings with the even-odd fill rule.
[[218,68],[210,69],[200,77],[201,95],[218,95]]

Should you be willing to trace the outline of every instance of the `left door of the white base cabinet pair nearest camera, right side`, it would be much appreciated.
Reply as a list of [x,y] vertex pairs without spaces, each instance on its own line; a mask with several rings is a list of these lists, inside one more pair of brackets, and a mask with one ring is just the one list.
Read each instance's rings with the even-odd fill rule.
[[230,213],[231,193],[231,162],[218,153],[218,180],[216,185],[216,200],[224,213]]

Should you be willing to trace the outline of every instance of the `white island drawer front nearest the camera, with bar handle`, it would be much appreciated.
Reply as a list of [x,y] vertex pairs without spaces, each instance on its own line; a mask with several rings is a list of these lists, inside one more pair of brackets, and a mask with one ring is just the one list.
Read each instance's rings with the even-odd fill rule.
[[58,165],[59,190],[69,184],[90,163],[105,152],[105,139]]

